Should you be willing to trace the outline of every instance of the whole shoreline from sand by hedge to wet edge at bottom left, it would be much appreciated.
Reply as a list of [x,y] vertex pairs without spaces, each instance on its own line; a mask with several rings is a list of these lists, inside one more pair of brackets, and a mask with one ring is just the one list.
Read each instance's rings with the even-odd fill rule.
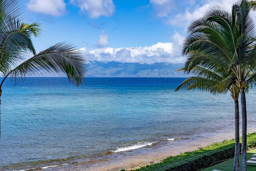
[[[256,128],[248,127],[248,133],[255,132]],[[28,171],[43,169],[45,171],[117,171],[120,169],[138,169],[140,167],[159,163],[163,159],[170,156],[176,156],[188,151],[197,150],[198,147],[206,147],[215,142],[223,141],[224,139],[234,139],[234,131],[220,133],[218,136],[204,136],[202,139],[186,139],[187,141],[177,141],[174,145],[150,145],[140,149],[131,150],[121,153],[111,153],[104,155],[98,159],[86,161],[85,159],[51,162],[46,165],[25,167],[25,169],[10,169],[16,171]]]

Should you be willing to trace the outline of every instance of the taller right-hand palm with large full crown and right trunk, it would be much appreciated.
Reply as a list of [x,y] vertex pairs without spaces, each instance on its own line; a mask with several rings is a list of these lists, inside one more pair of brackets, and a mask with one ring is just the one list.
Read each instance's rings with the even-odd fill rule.
[[[253,55],[255,41],[252,40],[255,31],[249,13],[250,7],[247,0],[234,4],[231,13],[220,6],[211,8],[203,18],[192,22],[182,51],[182,55],[187,56],[184,67],[187,73],[192,72],[194,67],[200,66],[210,71],[227,68],[235,74],[242,104],[243,171],[246,171],[247,135],[245,90],[250,84],[255,83],[253,81],[255,75],[252,72],[255,70]],[[223,87],[234,84],[233,81],[228,76]],[[237,129],[236,133],[238,133]],[[234,168],[238,170],[237,167]]]

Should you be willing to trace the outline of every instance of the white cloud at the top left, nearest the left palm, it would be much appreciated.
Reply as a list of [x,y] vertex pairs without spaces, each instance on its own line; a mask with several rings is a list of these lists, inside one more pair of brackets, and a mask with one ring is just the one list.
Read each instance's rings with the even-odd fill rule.
[[27,8],[36,13],[61,16],[66,11],[66,4],[64,0],[29,0]]

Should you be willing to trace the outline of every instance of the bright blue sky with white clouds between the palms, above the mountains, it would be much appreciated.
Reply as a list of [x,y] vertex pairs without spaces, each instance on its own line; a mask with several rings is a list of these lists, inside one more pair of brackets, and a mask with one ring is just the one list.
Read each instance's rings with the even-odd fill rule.
[[183,64],[186,28],[212,6],[235,0],[22,0],[24,21],[39,22],[39,52],[68,41],[88,61]]

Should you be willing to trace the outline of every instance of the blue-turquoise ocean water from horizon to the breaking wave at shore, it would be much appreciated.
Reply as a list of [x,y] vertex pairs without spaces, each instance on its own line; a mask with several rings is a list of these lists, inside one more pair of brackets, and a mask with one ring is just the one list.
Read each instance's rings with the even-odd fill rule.
[[[26,78],[17,85],[7,80],[1,97],[0,169],[90,162],[113,152],[115,157],[143,153],[146,147],[232,131],[230,95],[174,92],[183,80],[86,78],[82,88],[67,78]],[[252,89],[248,125],[255,124],[255,97]]]

